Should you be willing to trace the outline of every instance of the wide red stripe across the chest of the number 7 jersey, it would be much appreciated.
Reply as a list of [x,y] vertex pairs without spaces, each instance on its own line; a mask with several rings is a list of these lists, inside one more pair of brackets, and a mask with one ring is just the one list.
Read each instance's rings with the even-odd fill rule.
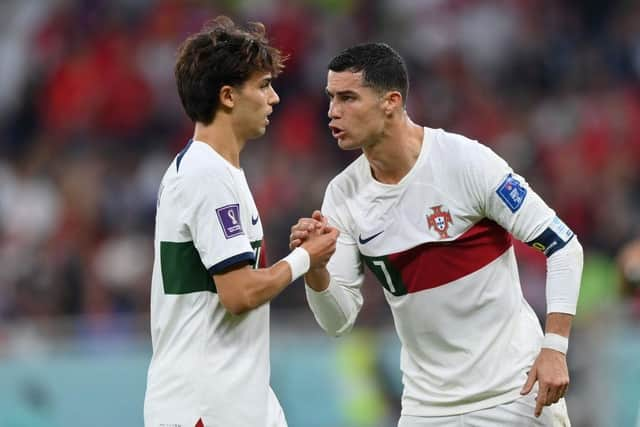
[[451,242],[425,243],[388,256],[400,272],[407,293],[446,285],[502,255],[511,247],[511,235],[484,219]]

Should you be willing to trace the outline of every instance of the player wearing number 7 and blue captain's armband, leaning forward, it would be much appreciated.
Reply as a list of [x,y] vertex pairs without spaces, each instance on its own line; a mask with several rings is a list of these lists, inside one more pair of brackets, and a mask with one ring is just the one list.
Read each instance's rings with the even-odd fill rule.
[[[327,79],[329,128],[363,154],[329,183],[322,212],[292,227],[291,247],[327,223],[340,231],[326,268],[305,275],[320,326],[335,336],[353,327],[366,265],[402,343],[400,426],[569,425],[574,233],[489,148],[411,121],[406,66],[386,44],[343,51]],[[512,235],[547,256],[544,336]]]

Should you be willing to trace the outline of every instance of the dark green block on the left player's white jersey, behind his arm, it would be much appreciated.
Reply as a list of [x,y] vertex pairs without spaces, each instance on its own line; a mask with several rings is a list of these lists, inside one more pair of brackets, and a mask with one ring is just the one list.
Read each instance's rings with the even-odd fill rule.
[[217,293],[193,242],[160,242],[160,266],[165,294]]

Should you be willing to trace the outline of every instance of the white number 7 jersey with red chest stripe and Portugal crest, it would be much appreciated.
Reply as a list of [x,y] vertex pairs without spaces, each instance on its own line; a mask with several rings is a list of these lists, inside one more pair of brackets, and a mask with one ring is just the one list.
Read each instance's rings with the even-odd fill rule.
[[331,181],[322,212],[341,234],[325,294],[341,292],[346,320],[323,315],[322,304],[335,307],[340,298],[321,304],[322,293],[307,288],[307,295],[324,329],[349,330],[366,264],[402,343],[402,414],[445,416],[519,398],[539,353],[542,330],[522,295],[511,234],[531,242],[550,227],[561,245],[573,234],[489,148],[424,132],[419,157],[398,184],[376,181],[364,155]]

